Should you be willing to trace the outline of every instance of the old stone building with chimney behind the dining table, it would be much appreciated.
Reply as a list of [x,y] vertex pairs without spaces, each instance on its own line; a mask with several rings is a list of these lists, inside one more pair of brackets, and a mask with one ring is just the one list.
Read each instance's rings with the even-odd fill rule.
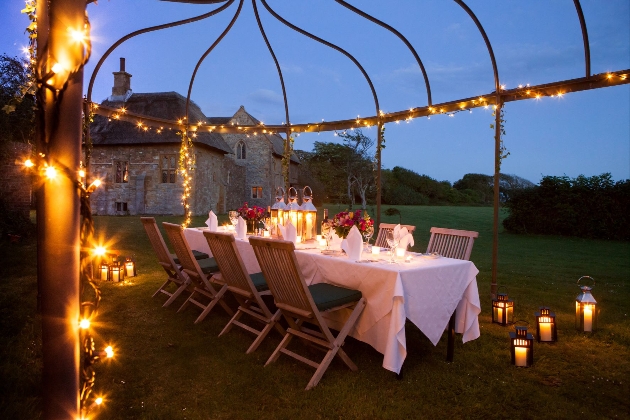
[[[131,74],[114,73],[112,96],[103,105],[176,121],[185,115],[186,98],[176,92],[133,93]],[[259,123],[244,107],[231,117],[206,117],[191,102],[191,121],[209,125]],[[92,195],[95,214],[184,214],[183,184],[177,172],[181,138],[175,130],[144,130],[129,122],[96,115],[90,127],[90,171],[102,181]],[[283,185],[284,139],[278,135],[199,132],[193,139],[193,215],[225,213],[244,202],[269,206],[277,186]],[[290,183],[297,183],[299,160],[291,157]]]

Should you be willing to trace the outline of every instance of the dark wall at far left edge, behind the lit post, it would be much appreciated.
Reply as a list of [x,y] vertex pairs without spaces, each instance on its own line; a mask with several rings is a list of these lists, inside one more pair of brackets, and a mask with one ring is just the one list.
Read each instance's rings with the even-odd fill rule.
[[31,156],[31,150],[30,144],[14,142],[0,150],[0,194],[9,209],[25,215],[31,208],[32,180],[24,161]]

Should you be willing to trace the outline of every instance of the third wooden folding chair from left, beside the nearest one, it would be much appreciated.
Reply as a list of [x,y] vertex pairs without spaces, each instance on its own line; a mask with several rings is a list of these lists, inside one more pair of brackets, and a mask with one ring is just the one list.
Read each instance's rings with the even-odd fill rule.
[[[219,265],[220,274],[215,274],[213,280],[223,281],[239,303],[238,310],[219,334],[221,337],[232,329],[233,325],[241,327],[256,335],[256,339],[247,349],[247,354],[254,352],[265,339],[272,328],[276,328],[280,335],[286,331],[278,324],[282,313],[280,309],[271,313],[262,299],[262,295],[271,295],[265,277],[262,273],[248,274],[241,254],[236,248],[234,235],[231,233],[204,232],[212,255]],[[247,314],[254,320],[264,324],[262,330],[257,330],[239,321]]]

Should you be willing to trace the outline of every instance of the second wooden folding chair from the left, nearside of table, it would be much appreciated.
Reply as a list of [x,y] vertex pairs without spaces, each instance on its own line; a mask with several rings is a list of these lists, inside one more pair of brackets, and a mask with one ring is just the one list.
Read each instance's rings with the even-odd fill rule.
[[[205,270],[202,269],[199,261],[197,261],[193,256],[190,246],[188,246],[188,242],[186,241],[186,237],[184,236],[184,230],[180,225],[166,222],[162,223],[162,225],[164,226],[166,234],[171,241],[171,245],[173,245],[177,258],[179,258],[182,272],[190,277],[193,285],[193,292],[190,294],[188,299],[186,299],[186,302],[184,302],[184,304],[177,310],[177,312],[184,310],[189,303],[201,308],[201,315],[199,315],[199,317],[195,320],[195,324],[197,324],[203,321],[206,315],[208,315],[212,308],[214,308],[214,306],[218,303],[229,315],[234,315],[234,312],[222,300],[223,295],[227,291],[227,285],[222,285],[217,291],[210,282],[210,278],[214,274],[218,273],[218,271],[213,271],[208,268]],[[199,298],[207,298],[210,299],[210,301],[208,303],[203,303],[199,300]]]

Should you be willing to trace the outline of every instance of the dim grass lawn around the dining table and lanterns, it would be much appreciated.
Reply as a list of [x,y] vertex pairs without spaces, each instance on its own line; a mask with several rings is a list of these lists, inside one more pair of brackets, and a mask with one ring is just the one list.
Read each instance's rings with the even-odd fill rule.
[[[97,343],[114,343],[117,355],[97,367],[95,392],[107,400],[99,418],[630,418],[630,243],[499,235],[498,282],[514,299],[516,318],[533,325],[545,304],[559,324],[559,341],[535,344],[534,366],[516,368],[509,360],[510,329],[490,318],[492,209],[396,207],[403,223],[417,226],[417,251],[426,249],[431,226],[479,232],[471,259],[480,270],[481,337],[459,340],[449,364],[446,337],[434,347],[408,325],[402,380],[381,367],[382,356],[370,346],[349,339],[344,348],[359,371],[335,361],[308,392],[313,370],[306,365],[281,357],[263,367],[277,333],[246,355],[249,333],[233,329],[217,337],[229,319],[220,307],[193,325],[196,310],[175,313],[182,299],[169,308],[161,307],[164,298],[151,299],[164,274],[139,218],[96,217],[97,232],[116,240],[121,255],[135,255],[139,273],[125,285],[101,284]],[[331,215],[343,210],[329,208]],[[165,220],[180,221],[158,218]],[[398,222],[398,216],[383,221]],[[37,418],[35,247],[5,244],[0,255],[0,418]],[[601,314],[592,335],[574,328],[575,283],[582,275],[597,281]]]

